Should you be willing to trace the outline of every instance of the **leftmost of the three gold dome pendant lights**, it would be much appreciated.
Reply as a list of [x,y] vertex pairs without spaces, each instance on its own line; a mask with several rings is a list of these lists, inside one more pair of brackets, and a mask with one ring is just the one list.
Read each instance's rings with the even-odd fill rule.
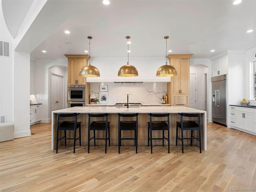
[[89,39],[89,65],[86,65],[84,66],[81,70],[80,70],[80,73],[79,73],[79,76],[83,76],[83,77],[99,77],[100,76],[100,72],[99,70],[92,66],[90,64],[90,58],[91,58],[91,54],[90,54],[90,44],[91,44],[91,39],[92,37],[88,37]]

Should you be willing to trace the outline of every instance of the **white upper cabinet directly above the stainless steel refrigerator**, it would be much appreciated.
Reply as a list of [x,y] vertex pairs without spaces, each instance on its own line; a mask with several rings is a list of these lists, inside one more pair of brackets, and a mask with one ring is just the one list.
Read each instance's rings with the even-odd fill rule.
[[228,74],[228,56],[212,61],[212,76]]

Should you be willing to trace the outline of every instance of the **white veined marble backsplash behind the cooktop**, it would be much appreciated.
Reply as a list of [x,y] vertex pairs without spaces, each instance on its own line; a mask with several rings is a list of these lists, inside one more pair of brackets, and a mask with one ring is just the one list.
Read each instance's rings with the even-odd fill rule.
[[167,94],[166,82],[145,82],[145,83],[90,83],[90,95],[95,94],[99,98],[100,85],[104,85],[108,92],[108,104],[127,102],[127,94],[129,94],[129,103],[142,104],[160,104],[162,96]]

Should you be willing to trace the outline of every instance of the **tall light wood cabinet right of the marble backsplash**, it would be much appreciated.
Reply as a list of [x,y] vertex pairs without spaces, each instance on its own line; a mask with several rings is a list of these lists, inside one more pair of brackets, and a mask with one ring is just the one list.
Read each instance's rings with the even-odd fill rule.
[[189,58],[193,54],[169,54],[170,65],[177,70],[167,85],[168,103],[172,106],[189,106]]

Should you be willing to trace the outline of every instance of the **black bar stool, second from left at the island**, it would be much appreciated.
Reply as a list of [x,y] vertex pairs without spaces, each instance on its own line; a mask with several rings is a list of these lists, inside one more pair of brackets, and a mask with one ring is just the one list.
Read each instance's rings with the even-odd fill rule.
[[[110,146],[110,122],[108,122],[109,113],[102,114],[88,114],[88,153],[90,153],[90,140],[94,140],[94,146],[96,146],[96,140],[105,140],[105,153],[107,153],[107,140]],[[104,118],[105,120],[96,120],[97,118]],[[93,137],[90,137],[90,131],[93,130]],[[95,131],[105,131],[104,138],[96,138]]]

